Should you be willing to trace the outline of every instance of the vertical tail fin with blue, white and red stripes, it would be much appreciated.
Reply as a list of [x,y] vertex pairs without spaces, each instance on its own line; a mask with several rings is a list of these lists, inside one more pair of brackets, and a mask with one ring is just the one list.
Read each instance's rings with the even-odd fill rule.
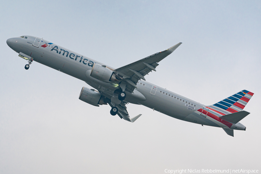
[[240,112],[247,105],[254,93],[242,90],[210,107],[220,110],[225,115]]

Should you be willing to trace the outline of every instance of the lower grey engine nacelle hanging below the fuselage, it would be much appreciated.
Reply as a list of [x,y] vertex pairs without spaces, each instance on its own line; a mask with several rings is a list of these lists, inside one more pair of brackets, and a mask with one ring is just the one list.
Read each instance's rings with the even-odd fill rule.
[[82,87],[79,99],[94,106],[106,104],[98,91],[86,87]]

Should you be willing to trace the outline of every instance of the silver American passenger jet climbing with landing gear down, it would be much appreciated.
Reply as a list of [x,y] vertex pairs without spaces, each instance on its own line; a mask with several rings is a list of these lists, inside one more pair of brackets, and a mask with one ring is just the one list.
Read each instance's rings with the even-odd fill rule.
[[7,45],[28,60],[83,80],[94,89],[82,87],[79,99],[94,106],[110,105],[111,115],[134,122],[142,114],[130,118],[128,103],[144,105],[168,116],[191,123],[222,128],[234,137],[234,130],[246,130],[239,121],[250,114],[243,111],[254,93],[242,90],[213,105],[203,105],[189,98],[147,82],[148,73],[156,71],[158,63],[182,43],[146,58],[113,68],[79,53],[70,51],[43,38],[24,35],[6,41]]

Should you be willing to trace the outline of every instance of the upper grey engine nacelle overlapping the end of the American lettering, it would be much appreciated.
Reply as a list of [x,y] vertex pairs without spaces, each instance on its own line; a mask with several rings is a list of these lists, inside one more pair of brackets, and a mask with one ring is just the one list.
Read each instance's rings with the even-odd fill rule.
[[90,72],[90,76],[104,82],[119,81],[116,79],[112,70],[108,69],[105,65],[93,64],[93,68]]

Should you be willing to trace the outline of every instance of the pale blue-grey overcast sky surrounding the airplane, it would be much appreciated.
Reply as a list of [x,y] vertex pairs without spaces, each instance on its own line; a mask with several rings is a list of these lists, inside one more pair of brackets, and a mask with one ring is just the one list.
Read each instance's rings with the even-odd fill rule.
[[[261,1],[2,1],[0,173],[260,170]],[[111,67],[182,42],[148,82],[204,105],[254,96],[227,135],[128,104],[130,123],[78,99],[85,82],[26,60],[6,44],[32,35]],[[259,101],[259,102],[258,102]]]

